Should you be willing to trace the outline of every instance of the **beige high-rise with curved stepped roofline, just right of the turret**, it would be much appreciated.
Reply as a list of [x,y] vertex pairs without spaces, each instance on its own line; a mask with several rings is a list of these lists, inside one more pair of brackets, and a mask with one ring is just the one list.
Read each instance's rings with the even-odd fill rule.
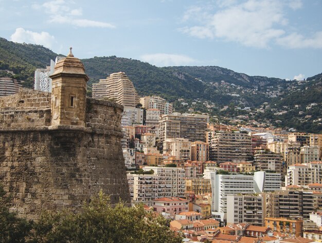
[[132,81],[124,72],[112,73],[99,83],[93,84],[93,98],[113,99],[124,107],[135,107],[140,103]]

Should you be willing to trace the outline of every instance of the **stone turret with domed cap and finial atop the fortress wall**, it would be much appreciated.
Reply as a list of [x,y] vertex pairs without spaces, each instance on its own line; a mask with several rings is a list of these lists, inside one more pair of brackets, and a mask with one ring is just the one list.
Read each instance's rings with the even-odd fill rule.
[[51,92],[51,125],[85,126],[86,82],[84,65],[71,53],[55,66]]

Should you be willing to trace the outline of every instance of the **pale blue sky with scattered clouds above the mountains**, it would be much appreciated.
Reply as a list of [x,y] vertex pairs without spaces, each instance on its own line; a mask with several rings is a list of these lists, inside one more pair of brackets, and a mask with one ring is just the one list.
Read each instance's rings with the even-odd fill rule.
[[321,13],[321,0],[0,0],[0,37],[78,58],[302,80],[322,72]]

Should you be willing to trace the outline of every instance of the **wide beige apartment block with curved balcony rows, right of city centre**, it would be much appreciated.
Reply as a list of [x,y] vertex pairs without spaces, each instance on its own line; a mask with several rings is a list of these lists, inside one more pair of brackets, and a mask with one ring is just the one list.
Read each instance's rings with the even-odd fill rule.
[[252,138],[241,132],[209,132],[209,159],[217,163],[242,162],[252,157]]

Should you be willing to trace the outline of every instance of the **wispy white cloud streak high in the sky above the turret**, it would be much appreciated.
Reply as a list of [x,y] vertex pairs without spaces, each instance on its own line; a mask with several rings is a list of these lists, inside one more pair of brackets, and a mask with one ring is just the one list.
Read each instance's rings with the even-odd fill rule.
[[74,1],[70,0],[53,0],[42,5],[33,4],[32,8],[45,11],[49,16],[49,23],[69,24],[76,27],[115,28],[110,23],[81,18],[83,10],[81,8],[72,8],[73,4],[75,4]]

